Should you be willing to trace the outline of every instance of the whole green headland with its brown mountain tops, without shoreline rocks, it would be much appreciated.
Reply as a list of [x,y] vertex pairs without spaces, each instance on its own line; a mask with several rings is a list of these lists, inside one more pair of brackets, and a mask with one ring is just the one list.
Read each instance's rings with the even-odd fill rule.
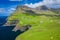
[[44,5],[37,8],[18,6],[7,22],[19,20],[16,27],[31,26],[28,31],[17,36],[16,40],[60,40],[60,12],[57,12]]

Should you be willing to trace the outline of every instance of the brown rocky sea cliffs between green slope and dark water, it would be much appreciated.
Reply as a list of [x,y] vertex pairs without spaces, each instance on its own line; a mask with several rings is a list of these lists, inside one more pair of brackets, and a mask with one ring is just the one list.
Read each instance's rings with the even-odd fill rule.
[[20,30],[20,31],[24,32],[24,31],[30,29],[30,27],[31,27],[31,25],[25,25],[25,26],[23,26],[23,27],[20,27],[19,25],[17,25],[18,22],[19,22],[18,20],[9,20],[9,22],[6,22],[3,26],[15,26],[15,27],[12,29],[12,31],[15,31],[15,32],[16,32],[17,30]]

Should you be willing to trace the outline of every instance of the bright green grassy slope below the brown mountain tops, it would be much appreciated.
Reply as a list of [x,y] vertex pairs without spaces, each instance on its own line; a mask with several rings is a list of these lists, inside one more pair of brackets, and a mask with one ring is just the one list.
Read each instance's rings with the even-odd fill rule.
[[[42,12],[41,12],[42,13]],[[60,16],[36,15],[24,12],[14,12],[9,20],[19,20],[18,25],[31,25],[31,29],[16,37],[16,40],[60,40]],[[55,13],[56,14],[56,13]]]

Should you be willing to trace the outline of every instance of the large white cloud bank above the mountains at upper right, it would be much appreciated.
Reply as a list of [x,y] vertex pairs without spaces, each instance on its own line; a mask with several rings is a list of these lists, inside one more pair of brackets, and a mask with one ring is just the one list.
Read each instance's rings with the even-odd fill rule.
[[42,5],[46,5],[52,8],[59,8],[60,0],[43,0],[42,2],[38,2],[35,4],[30,3],[30,4],[25,4],[25,5],[31,8],[35,8],[35,7],[42,6]]

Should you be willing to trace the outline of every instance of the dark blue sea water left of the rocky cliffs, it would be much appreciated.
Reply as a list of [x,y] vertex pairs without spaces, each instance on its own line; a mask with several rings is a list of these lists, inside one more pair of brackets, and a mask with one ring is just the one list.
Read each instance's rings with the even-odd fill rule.
[[7,22],[8,16],[0,16],[0,40],[15,40],[15,38],[22,32],[12,31],[15,26],[2,26]]

